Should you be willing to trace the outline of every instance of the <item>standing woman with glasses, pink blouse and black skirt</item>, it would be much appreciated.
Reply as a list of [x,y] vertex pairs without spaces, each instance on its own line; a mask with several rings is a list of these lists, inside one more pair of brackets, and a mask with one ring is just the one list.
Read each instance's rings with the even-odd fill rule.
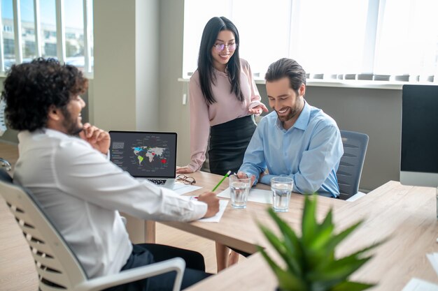
[[204,28],[189,95],[192,157],[176,173],[202,167],[209,136],[210,172],[237,172],[255,130],[253,114],[268,110],[260,102],[248,62],[239,58],[239,32],[225,17],[211,18]]

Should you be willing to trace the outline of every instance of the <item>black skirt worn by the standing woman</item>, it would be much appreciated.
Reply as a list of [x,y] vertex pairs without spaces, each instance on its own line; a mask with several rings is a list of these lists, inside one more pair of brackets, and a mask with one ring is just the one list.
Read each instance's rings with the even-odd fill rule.
[[234,119],[210,128],[210,172],[225,175],[237,172],[256,128],[253,115]]

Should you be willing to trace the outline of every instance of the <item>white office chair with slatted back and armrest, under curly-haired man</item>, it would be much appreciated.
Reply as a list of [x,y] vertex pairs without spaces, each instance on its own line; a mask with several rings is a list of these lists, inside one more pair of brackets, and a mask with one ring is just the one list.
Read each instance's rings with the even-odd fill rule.
[[6,200],[30,246],[38,272],[39,290],[103,290],[169,271],[176,271],[174,291],[181,289],[185,269],[185,262],[181,258],[129,269],[118,274],[87,278],[76,256],[50,219],[45,216],[34,195],[26,188],[13,184],[3,169],[0,169],[0,194]]

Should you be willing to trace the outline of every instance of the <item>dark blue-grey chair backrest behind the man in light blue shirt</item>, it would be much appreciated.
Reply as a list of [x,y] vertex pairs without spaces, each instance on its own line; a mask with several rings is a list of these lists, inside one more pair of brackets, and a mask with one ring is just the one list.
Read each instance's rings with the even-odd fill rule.
[[369,137],[365,133],[347,130],[341,130],[341,137],[344,155],[341,157],[336,176],[340,191],[339,197],[346,200],[358,193]]

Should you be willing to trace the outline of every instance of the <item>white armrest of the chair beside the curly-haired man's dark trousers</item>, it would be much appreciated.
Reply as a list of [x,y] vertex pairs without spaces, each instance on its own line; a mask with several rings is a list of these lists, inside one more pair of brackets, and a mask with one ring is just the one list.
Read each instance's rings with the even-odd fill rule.
[[185,261],[181,258],[174,258],[171,260],[165,260],[162,262],[148,264],[143,267],[121,271],[118,274],[111,274],[108,276],[94,278],[77,285],[74,290],[76,291],[103,290],[113,286],[118,286],[125,283],[139,281],[144,278],[149,278],[160,274],[164,274],[169,271],[176,271],[174,291],[179,291],[181,289],[181,283],[183,281],[184,269],[185,269]]

